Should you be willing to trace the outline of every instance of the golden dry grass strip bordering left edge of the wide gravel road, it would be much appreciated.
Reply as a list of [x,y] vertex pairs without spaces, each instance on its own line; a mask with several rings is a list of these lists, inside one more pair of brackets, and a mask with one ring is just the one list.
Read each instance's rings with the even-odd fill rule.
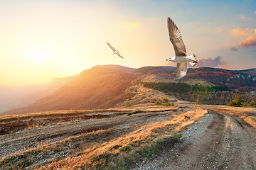
[[137,159],[156,154],[159,144],[177,140],[177,137],[180,137],[177,136],[180,130],[206,113],[206,110],[197,109],[176,115],[168,121],[137,127],[132,132],[102,144],[95,142],[79,154],[70,154],[65,159],[38,169],[126,169]]

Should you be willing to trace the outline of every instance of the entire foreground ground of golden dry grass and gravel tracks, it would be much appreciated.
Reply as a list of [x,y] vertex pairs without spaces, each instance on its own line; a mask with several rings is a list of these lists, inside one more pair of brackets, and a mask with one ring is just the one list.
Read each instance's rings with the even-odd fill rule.
[[188,103],[2,116],[0,169],[254,169],[255,118]]

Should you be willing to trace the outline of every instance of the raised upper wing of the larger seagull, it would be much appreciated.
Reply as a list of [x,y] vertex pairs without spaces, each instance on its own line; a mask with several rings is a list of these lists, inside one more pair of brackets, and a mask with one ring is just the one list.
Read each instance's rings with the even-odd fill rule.
[[174,21],[172,21],[169,17],[167,18],[167,26],[170,40],[174,45],[175,55],[186,56],[186,47],[181,38],[181,31],[178,30],[178,27],[176,26]]

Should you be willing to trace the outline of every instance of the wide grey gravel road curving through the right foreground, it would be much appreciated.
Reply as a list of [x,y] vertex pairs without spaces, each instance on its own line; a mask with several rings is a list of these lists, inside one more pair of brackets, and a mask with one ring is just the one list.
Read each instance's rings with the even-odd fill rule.
[[235,115],[210,111],[163,150],[134,169],[256,169],[256,129]]

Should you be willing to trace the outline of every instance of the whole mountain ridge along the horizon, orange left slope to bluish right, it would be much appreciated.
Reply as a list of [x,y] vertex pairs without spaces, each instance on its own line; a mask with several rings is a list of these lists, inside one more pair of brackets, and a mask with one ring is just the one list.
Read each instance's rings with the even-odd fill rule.
[[[133,69],[120,65],[97,65],[73,77],[55,78],[30,96],[30,102],[0,115],[33,113],[68,109],[112,108],[132,96],[129,86],[138,81],[177,82],[176,67],[141,67]],[[181,82],[225,85],[230,91],[256,91],[256,69],[227,70],[210,67],[188,69]],[[203,84],[202,84],[203,85]],[[33,103],[32,103],[33,101]],[[24,107],[25,106],[25,107]],[[1,107],[1,106],[0,106]],[[11,108],[10,108],[11,109]],[[1,111],[0,111],[1,112]]]

